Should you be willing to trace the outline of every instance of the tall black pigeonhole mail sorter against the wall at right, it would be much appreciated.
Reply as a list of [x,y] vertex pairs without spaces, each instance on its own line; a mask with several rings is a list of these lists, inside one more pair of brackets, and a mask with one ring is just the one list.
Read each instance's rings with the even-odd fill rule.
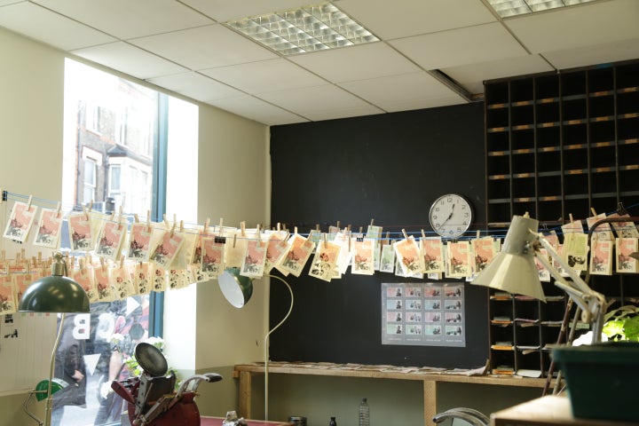
[[[548,228],[620,204],[639,213],[639,61],[486,82],[485,153],[489,230],[506,229],[525,212]],[[628,304],[639,300],[636,278],[593,276],[588,284],[615,305]],[[565,300],[551,283],[544,290],[557,297],[536,304],[491,290],[493,369],[547,373],[544,346],[556,341]],[[517,321],[525,310],[539,321]],[[511,350],[496,344],[510,342]]]

